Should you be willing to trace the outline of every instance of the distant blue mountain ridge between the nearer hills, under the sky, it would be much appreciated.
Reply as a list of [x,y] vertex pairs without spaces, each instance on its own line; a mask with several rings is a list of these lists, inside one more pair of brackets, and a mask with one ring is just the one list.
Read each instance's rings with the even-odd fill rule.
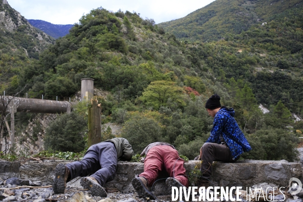
[[49,36],[59,38],[69,33],[74,25],[55,25],[43,20],[27,20],[32,26],[42,30]]

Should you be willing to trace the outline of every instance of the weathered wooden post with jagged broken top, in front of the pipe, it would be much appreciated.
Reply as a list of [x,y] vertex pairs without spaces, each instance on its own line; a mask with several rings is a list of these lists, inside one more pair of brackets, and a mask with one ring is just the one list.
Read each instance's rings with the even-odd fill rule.
[[101,104],[97,99],[90,99],[88,107],[88,146],[101,141]]

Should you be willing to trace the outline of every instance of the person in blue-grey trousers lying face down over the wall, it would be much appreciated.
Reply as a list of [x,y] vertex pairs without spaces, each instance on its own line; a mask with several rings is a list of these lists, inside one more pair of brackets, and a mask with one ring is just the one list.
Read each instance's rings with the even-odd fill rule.
[[117,161],[130,161],[133,154],[132,146],[125,138],[113,138],[91,145],[81,161],[57,165],[53,190],[55,193],[64,193],[66,182],[80,176],[80,184],[89,189],[93,196],[106,197],[103,186],[114,179]]

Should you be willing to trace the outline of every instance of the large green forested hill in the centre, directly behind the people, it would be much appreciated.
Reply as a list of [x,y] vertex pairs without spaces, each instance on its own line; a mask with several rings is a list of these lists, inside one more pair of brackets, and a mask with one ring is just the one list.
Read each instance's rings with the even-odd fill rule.
[[[135,12],[94,9],[38,60],[15,71],[16,79],[8,80],[3,89],[14,92],[17,80],[30,97],[43,94],[63,100],[80,90],[81,78],[93,78],[96,88],[108,91],[97,97],[103,123],[123,124],[121,135],[136,153],[148,143],[166,141],[190,159],[209,137],[213,119],[205,102],[218,93],[223,105],[235,109],[253,148],[243,158],[291,161],[303,130],[302,121],[294,123],[291,118],[291,112],[299,114],[303,107],[299,83],[303,21],[300,10],[284,14],[264,26],[204,43],[178,40]],[[293,41],[295,45],[290,45]],[[263,114],[260,103],[270,113]],[[81,110],[75,113],[85,117]],[[75,135],[76,123],[67,116],[47,129],[47,148],[60,145],[62,151],[71,150],[71,139],[79,141],[69,136]],[[111,131],[104,137],[111,137]],[[84,148],[78,143],[77,151]]]

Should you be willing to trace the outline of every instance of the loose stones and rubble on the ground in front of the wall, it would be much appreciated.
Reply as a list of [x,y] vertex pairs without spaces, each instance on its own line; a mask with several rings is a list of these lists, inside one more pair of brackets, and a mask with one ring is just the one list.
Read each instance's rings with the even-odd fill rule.
[[[139,198],[136,192],[131,193],[121,193],[117,189],[107,188],[108,197],[98,197],[92,196],[90,191],[87,189],[83,189],[79,184],[80,178],[76,178],[71,182],[67,183],[67,187],[65,193],[63,194],[55,194],[53,188],[51,186],[38,186],[39,182],[31,182],[30,180],[22,180],[16,177],[7,179],[6,181],[2,181],[0,184],[0,200],[1,201],[28,201],[28,202],[44,202],[44,201],[66,201],[66,202],[135,202],[135,201],[171,201],[171,195],[162,195],[157,196],[157,200],[150,200],[149,198]],[[12,183],[12,184],[10,184]],[[34,186],[22,186],[24,183],[31,184]],[[36,187],[35,187],[36,186]],[[258,187],[257,195],[261,193],[262,189],[264,191],[263,196],[268,198],[268,201],[285,201],[285,202],[303,202],[303,191],[300,191],[296,194],[291,194],[291,192],[285,190],[276,191],[275,198],[272,198],[273,190],[272,188],[268,189],[268,187],[277,186],[275,184],[268,183],[260,183],[252,186],[252,189]],[[295,186],[294,186],[295,187]],[[293,188],[292,190],[296,190],[298,186]],[[242,195],[240,198],[242,201],[246,202],[248,197],[246,198],[245,190],[241,190]],[[262,195],[262,194],[261,194]],[[249,196],[249,194],[248,194]],[[264,201],[263,196],[259,201]],[[235,198],[236,196],[233,195]],[[198,198],[198,195],[196,196]],[[247,199],[247,200],[246,200]],[[191,201],[191,200],[190,200]],[[207,200],[206,200],[207,201]],[[222,201],[231,201],[225,200]],[[256,201],[256,198],[252,196],[251,201]]]

